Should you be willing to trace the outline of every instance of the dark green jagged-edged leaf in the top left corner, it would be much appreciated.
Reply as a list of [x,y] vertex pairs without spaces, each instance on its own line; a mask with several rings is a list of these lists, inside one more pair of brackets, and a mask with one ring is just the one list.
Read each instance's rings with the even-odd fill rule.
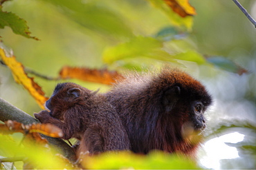
[[0,28],[4,28],[5,26],[10,27],[15,34],[38,40],[35,36],[30,36],[28,26],[24,19],[19,18],[12,12],[3,12],[2,6],[0,6]]

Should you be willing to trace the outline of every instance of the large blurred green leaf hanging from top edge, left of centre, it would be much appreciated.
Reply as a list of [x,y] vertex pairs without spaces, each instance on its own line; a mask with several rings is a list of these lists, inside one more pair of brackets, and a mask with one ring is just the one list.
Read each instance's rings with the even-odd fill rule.
[[104,6],[101,1],[80,0],[48,0],[58,6],[60,12],[89,30],[114,34],[119,36],[131,36],[131,29],[117,13]]

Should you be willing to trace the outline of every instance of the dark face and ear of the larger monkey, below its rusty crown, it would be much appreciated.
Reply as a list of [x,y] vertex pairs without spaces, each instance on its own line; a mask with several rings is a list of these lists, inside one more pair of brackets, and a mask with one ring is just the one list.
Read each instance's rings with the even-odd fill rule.
[[164,92],[165,112],[174,124],[188,129],[188,131],[200,132],[206,127],[204,112],[211,103],[208,95],[201,95],[196,90],[185,89],[176,85]]

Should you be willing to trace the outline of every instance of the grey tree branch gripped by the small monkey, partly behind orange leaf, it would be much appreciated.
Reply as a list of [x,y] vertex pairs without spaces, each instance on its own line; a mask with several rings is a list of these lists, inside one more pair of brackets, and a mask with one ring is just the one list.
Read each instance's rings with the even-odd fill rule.
[[[0,120],[3,122],[6,120],[16,120],[24,125],[39,123],[38,120],[29,114],[26,114],[24,111],[21,111],[21,109],[18,109],[14,105],[6,102],[6,100],[3,100],[2,98],[0,98]],[[58,149],[58,151],[68,158],[68,160],[71,160],[72,162],[75,161],[75,152],[66,142],[64,142],[64,140],[44,135],[42,136],[48,140],[50,145],[53,145],[53,147]]]

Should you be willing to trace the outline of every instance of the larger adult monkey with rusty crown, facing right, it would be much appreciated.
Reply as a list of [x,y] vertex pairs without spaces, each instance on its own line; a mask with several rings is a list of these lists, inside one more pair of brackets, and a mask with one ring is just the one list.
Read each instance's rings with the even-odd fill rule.
[[158,149],[196,157],[212,97],[189,74],[169,67],[131,74],[104,96],[120,115],[134,153]]

